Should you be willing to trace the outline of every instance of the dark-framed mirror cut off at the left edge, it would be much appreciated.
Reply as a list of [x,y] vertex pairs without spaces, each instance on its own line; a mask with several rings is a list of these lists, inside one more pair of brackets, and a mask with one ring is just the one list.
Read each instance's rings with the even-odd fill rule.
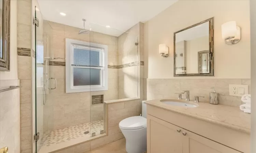
[[0,70],[10,71],[10,0],[0,0]]

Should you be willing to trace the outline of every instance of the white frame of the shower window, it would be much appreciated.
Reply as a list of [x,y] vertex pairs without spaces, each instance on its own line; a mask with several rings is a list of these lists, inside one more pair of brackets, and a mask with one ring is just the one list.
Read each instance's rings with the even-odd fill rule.
[[[80,67],[75,66],[76,68],[96,68],[101,69],[101,85],[88,85],[88,86],[73,86],[73,68],[72,64],[72,45],[89,47],[90,50],[102,51],[102,67]],[[108,90],[108,46],[96,43],[90,43],[86,41],[74,40],[66,38],[66,93],[72,92],[88,92],[88,91],[102,91]]]

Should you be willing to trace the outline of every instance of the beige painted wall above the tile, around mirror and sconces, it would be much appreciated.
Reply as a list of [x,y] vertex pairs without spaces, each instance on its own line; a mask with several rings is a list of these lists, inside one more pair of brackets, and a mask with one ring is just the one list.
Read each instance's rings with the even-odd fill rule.
[[[229,0],[177,1],[145,23],[145,78],[174,78],[173,33],[214,17],[215,77],[211,78],[250,79],[249,10],[248,0],[232,3]],[[236,45],[226,45],[222,39],[221,25],[231,20],[235,20],[242,29],[242,39]],[[170,55],[167,58],[158,54],[158,45],[163,43],[169,47]]]

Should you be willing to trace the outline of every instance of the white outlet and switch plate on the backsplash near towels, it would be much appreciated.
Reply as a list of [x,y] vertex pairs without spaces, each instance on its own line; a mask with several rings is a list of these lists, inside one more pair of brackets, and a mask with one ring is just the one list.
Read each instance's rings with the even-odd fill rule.
[[229,85],[229,96],[239,96],[248,94],[248,85]]

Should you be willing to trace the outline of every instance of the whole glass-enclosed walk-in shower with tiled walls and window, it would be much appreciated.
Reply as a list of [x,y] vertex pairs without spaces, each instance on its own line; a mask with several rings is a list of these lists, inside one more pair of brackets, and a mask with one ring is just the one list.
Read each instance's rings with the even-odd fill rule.
[[104,102],[138,98],[137,35],[91,22],[75,28],[35,10],[37,152],[104,136]]

